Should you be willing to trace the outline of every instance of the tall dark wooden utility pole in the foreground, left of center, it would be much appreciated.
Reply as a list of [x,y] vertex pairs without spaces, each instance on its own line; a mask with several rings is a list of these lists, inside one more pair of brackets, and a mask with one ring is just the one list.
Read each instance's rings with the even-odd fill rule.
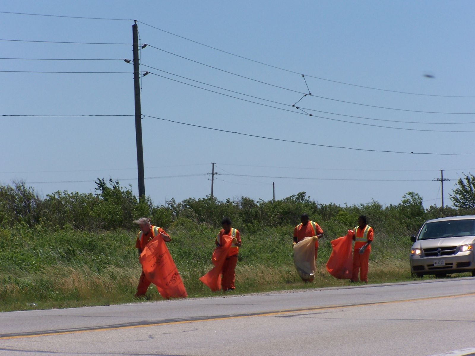
[[135,101],[135,140],[137,141],[137,173],[139,199],[145,197],[145,178],[143,177],[142,147],[142,109],[140,107],[140,70],[139,70],[139,30],[137,21],[132,25],[133,48],[133,92]]

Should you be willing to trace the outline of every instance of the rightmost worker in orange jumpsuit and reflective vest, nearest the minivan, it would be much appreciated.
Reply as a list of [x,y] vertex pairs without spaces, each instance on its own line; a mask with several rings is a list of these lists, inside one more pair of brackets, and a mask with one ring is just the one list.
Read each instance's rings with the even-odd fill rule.
[[360,272],[360,281],[368,283],[368,262],[370,261],[371,243],[373,242],[373,228],[367,224],[366,216],[358,217],[358,226],[355,227],[353,240],[353,271],[351,282],[358,281],[358,272]]

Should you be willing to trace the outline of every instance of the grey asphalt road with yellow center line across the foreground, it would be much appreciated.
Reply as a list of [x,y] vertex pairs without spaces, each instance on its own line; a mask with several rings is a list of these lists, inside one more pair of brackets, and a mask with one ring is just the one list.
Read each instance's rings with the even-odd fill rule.
[[475,278],[6,312],[0,356],[475,355]]

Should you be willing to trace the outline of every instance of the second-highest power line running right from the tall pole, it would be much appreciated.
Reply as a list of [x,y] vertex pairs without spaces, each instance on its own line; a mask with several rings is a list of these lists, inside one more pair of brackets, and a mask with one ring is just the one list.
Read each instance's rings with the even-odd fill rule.
[[303,93],[303,92],[299,92],[298,90],[286,88],[286,87],[283,87],[283,86],[280,86],[280,85],[276,85],[276,84],[270,84],[270,83],[267,83],[267,82],[264,82],[264,81],[261,81],[261,80],[257,80],[257,79],[254,79],[254,78],[247,77],[247,76],[245,76],[245,75],[240,75],[240,74],[237,74],[237,73],[229,72],[229,71],[227,71],[227,70],[224,70],[224,69],[221,69],[221,68],[218,68],[218,67],[215,67],[215,66],[210,66],[210,65],[207,65],[207,64],[205,64],[205,63],[196,61],[196,60],[194,60],[194,59],[190,59],[190,58],[187,58],[187,57],[184,57],[184,56],[177,55],[177,54],[175,54],[175,53],[166,51],[166,50],[161,49],[161,48],[159,48],[159,47],[152,46],[152,45],[150,45],[150,44],[147,44],[147,46],[148,46],[148,47],[155,48],[155,49],[157,49],[157,50],[159,50],[159,51],[162,51],[162,52],[171,54],[171,55],[173,55],[173,56],[177,56],[177,57],[180,57],[180,58],[189,60],[189,61],[191,61],[191,62],[197,63],[197,64],[202,65],[202,66],[207,66],[207,67],[209,67],[209,68],[216,69],[216,70],[221,71],[221,72],[224,72],[224,73],[228,73],[228,74],[231,74],[231,75],[236,75],[236,76],[238,76],[238,77],[240,77],[240,78],[244,78],[244,79],[247,79],[247,80],[251,80],[251,81],[254,81],[254,82],[257,82],[257,83],[260,83],[260,84],[270,85],[270,86],[272,86],[272,87],[275,87],[275,88],[278,88],[278,89],[287,90],[287,91],[290,91],[290,92],[293,92],[293,93],[297,93],[297,94],[302,94],[302,95],[307,94],[308,96],[314,97],[314,98],[319,98],[319,99],[324,99],[324,100],[331,100],[331,101],[336,101],[336,102],[339,102],[339,103],[347,103],[347,104],[352,104],[352,105],[368,106],[368,107],[378,108],[378,109],[396,110],[396,111],[406,111],[406,112],[423,112],[423,113],[432,113],[432,114],[452,114],[452,115],[475,114],[475,112],[435,112],[435,111],[422,111],[422,110],[400,109],[400,108],[391,108],[391,107],[387,107],[387,106],[378,106],[378,105],[370,105],[370,104],[363,104],[363,103],[354,103],[354,102],[349,102],[349,101],[346,101],[346,100],[340,100],[340,99],[334,99],[334,98],[327,98],[327,97],[325,97],[325,96]]

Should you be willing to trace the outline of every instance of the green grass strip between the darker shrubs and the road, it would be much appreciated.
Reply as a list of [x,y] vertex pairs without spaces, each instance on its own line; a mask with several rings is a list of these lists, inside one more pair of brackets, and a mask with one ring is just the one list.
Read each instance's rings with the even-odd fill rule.
[[[172,237],[168,247],[189,297],[221,295],[199,281],[212,267],[218,231],[190,221],[180,221],[168,231]],[[293,266],[291,226],[243,232],[234,293],[350,285],[325,270],[330,240],[336,237],[321,241],[315,280],[303,283]],[[141,267],[135,238],[135,233],[123,230],[0,229],[0,311],[136,302],[133,295]],[[410,243],[406,240],[375,237],[368,275],[371,283],[414,280],[409,273]],[[161,300],[153,286],[147,299]]]

